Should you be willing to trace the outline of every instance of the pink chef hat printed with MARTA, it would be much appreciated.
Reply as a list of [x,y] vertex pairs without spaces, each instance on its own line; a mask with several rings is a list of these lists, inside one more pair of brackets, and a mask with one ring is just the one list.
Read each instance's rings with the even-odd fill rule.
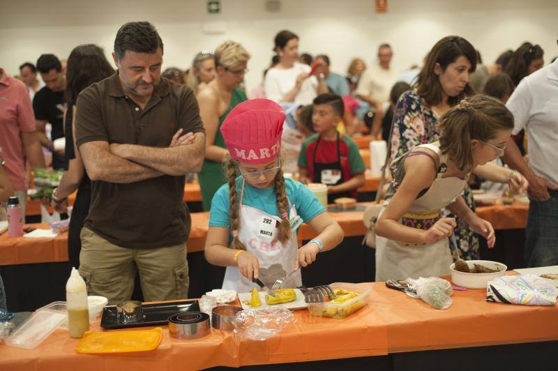
[[229,112],[221,133],[233,158],[263,164],[279,154],[284,121],[282,107],[273,100],[246,100]]

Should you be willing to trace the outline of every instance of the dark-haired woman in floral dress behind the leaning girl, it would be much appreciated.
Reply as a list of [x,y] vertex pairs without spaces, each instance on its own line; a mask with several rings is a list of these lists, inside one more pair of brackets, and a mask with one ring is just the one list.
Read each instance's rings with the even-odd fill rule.
[[[469,86],[469,75],[476,68],[476,50],[460,36],[446,36],[439,40],[425,59],[414,89],[399,98],[393,115],[391,158],[412,151],[419,144],[438,140],[439,117],[457,105],[460,100],[474,94]],[[474,174],[481,179],[518,185],[518,192],[526,187],[526,180],[517,172],[494,164],[478,166]],[[462,197],[472,211],[475,210],[471,188],[465,186]],[[453,215],[448,215],[453,216]],[[478,236],[467,223],[455,218],[453,229],[463,259],[478,259]]]

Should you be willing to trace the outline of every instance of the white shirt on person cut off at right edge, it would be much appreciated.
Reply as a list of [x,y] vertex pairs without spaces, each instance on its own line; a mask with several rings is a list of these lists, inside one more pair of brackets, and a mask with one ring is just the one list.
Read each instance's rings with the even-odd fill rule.
[[513,134],[529,138],[529,167],[558,187],[558,60],[521,80],[506,107],[513,113]]

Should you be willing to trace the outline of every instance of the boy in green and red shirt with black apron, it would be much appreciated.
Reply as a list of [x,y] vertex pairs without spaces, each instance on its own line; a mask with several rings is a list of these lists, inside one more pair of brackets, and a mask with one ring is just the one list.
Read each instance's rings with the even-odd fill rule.
[[359,148],[336,129],[344,112],[340,96],[317,96],[312,114],[316,134],[302,144],[299,156],[301,181],[326,184],[330,204],[338,197],[356,198],[356,189],[365,182],[366,167]]

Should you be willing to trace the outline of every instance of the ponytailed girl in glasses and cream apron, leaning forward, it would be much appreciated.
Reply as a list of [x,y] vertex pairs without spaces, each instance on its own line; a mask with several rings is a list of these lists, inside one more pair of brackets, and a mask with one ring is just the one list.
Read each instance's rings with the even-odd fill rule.
[[[494,247],[495,232],[461,196],[469,174],[502,156],[513,129],[513,115],[488,96],[462,100],[438,124],[438,142],[421,144],[393,162],[395,194],[376,224],[376,280],[404,280],[449,274],[453,262],[448,237],[455,218],[440,218],[447,207]],[[510,185],[527,188],[525,179]]]

